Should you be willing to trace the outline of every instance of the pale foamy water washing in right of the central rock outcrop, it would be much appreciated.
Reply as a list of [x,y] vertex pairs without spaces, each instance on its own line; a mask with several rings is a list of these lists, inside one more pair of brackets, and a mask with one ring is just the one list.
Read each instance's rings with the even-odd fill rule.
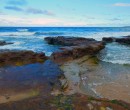
[[99,59],[114,64],[130,64],[130,47],[118,43],[107,44]]

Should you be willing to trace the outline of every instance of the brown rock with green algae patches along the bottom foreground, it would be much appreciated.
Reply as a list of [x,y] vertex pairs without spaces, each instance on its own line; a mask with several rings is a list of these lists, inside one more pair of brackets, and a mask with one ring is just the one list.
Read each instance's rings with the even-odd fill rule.
[[0,110],[129,110],[126,107],[130,107],[130,104],[126,104],[126,106],[111,104],[107,99],[93,100],[101,102],[102,105],[91,104],[88,96],[81,94],[43,95],[17,102],[9,102],[8,104],[0,104]]

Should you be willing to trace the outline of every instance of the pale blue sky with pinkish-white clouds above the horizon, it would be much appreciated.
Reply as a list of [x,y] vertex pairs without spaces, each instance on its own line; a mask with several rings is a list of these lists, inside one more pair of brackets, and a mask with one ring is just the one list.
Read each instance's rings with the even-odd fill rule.
[[130,26],[130,0],[0,0],[0,26]]

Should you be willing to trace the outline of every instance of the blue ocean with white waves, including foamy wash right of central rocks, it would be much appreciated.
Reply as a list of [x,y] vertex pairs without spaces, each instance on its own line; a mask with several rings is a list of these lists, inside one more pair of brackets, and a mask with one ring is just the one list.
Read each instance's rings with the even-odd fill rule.
[[[32,50],[49,56],[59,46],[48,45],[45,37],[85,37],[101,41],[103,37],[127,35],[130,35],[130,27],[0,27],[0,40],[14,43],[0,46],[0,50]],[[108,44],[98,57],[105,62],[130,64],[130,46]]]

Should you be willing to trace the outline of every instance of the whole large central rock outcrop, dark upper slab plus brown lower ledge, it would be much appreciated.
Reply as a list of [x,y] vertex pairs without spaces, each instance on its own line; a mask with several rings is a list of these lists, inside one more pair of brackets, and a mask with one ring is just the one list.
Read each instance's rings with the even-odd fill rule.
[[83,57],[85,55],[95,55],[105,46],[103,42],[87,38],[65,38],[65,37],[47,37],[45,40],[49,44],[62,45],[61,50],[54,52],[51,59],[58,63]]

